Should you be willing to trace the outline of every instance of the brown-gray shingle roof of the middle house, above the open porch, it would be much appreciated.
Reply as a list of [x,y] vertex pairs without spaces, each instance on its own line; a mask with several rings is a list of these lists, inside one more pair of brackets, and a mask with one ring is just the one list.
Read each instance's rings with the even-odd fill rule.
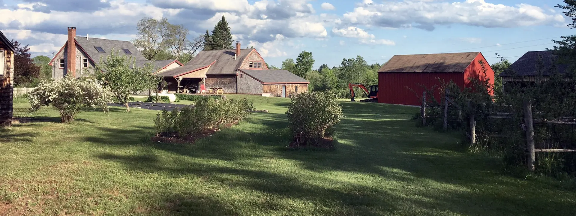
[[[240,56],[234,60],[236,50],[203,50],[200,51],[185,66],[190,69],[197,69],[210,65],[214,60],[216,63],[210,66],[206,74],[236,74],[236,69],[242,65],[242,61],[248,56],[253,49],[240,50]],[[175,70],[175,69],[172,69]]]

